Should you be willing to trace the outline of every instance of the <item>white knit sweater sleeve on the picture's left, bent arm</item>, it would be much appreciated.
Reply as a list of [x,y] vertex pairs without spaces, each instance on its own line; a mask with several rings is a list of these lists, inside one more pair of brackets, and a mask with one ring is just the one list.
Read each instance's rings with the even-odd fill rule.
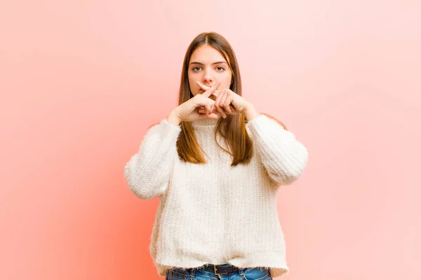
[[132,192],[142,199],[165,193],[175,157],[181,128],[162,120],[145,135],[138,153],[124,167],[124,176]]

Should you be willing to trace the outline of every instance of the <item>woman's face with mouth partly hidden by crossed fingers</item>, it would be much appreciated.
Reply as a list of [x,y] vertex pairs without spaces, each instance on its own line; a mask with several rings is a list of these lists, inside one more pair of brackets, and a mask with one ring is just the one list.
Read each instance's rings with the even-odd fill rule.
[[196,95],[203,92],[197,85],[197,80],[208,86],[220,82],[219,89],[225,89],[231,85],[232,73],[228,62],[218,50],[210,45],[201,45],[190,57],[188,77],[190,90],[193,95]]

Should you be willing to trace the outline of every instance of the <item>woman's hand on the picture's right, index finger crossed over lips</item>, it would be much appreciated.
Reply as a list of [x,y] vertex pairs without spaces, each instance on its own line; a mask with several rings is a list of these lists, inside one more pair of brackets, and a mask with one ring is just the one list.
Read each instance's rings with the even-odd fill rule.
[[[203,85],[197,81],[197,85],[201,87],[202,90],[206,91],[210,87]],[[222,118],[227,118],[227,114],[236,115],[243,113],[248,106],[248,102],[243,97],[239,96],[229,88],[222,90],[215,90],[213,92],[213,99],[215,100],[215,109],[213,113],[220,113]],[[205,109],[199,109],[199,113],[205,113]]]

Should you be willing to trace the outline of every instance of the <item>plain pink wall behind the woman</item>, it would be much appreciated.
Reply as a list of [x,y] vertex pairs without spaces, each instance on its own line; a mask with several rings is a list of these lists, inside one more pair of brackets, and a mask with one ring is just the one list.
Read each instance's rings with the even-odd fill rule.
[[159,200],[123,166],[202,31],[309,148],[279,193],[287,278],[421,279],[421,3],[256,3],[1,1],[0,279],[159,279]]

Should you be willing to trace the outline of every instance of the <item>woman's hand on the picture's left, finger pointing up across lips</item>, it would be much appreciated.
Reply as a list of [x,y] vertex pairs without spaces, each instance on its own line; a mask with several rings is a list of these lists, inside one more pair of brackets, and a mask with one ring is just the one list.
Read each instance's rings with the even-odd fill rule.
[[[213,112],[215,108],[215,100],[210,99],[210,95],[220,86],[217,83],[210,87],[206,92],[196,94],[177,108],[175,108],[168,116],[167,121],[173,125],[180,125],[182,121],[192,122],[193,120],[218,119],[218,115]],[[204,108],[203,113],[199,113],[199,109]]]

